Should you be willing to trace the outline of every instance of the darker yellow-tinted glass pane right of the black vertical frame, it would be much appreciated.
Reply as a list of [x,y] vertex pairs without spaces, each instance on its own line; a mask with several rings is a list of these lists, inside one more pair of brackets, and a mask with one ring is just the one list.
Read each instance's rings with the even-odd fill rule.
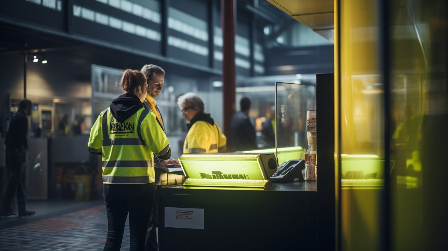
[[447,7],[446,0],[391,2],[394,251],[447,248]]

